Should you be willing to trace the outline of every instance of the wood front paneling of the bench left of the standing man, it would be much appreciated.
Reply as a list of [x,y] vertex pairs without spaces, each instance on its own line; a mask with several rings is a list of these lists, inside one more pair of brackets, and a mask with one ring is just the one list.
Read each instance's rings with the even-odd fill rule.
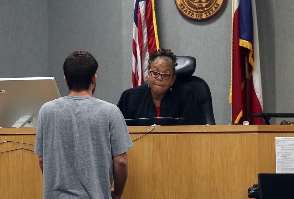
[[[8,129],[7,129],[8,130]],[[8,131],[9,134],[12,131]],[[0,143],[17,141],[35,143],[35,136],[0,135]],[[18,149],[17,148],[30,149]],[[43,176],[35,145],[4,142],[0,145],[0,194],[1,199],[41,199],[43,198]],[[9,152],[5,152],[9,151]],[[4,152],[4,153],[1,153]]]

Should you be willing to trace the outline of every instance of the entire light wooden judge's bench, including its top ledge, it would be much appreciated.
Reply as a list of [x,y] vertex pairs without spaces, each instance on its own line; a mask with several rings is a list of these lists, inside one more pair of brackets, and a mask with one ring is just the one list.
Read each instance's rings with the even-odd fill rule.
[[[129,127],[130,136],[151,128]],[[34,145],[20,144],[35,135],[36,128],[0,128],[1,199],[43,198]],[[293,125],[158,126],[128,151],[122,198],[247,199],[258,173],[275,173],[275,137],[286,136]]]

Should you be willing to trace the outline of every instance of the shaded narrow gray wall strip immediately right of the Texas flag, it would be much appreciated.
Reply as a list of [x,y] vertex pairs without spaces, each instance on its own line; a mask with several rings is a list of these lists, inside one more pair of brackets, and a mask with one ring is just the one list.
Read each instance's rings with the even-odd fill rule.
[[[263,112],[276,113],[275,1],[256,1]],[[270,120],[272,124],[276,119]]]

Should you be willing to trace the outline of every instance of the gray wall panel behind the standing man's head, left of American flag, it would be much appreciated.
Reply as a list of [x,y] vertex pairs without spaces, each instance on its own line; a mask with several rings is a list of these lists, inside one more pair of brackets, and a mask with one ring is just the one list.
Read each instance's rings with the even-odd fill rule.
[[122,3],[116,1],[48,1],[49,74],[62,95],[63,62],[74,50],[90,52],[99,64],[94,97],[117,103],[123,81]]

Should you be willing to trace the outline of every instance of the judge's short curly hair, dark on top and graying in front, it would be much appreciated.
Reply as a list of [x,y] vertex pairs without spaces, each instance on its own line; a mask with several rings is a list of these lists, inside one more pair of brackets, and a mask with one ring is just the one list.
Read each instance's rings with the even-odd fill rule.
[[171,52],[170,49],[159,48],[157,51],[153,51],[153,53],[150,54],[148,59],[148,69],[150,70],[155,61],[165,61],[171,64],[173,72],[175,72],[175,67],[178,65],[177,59],[177,55]]

